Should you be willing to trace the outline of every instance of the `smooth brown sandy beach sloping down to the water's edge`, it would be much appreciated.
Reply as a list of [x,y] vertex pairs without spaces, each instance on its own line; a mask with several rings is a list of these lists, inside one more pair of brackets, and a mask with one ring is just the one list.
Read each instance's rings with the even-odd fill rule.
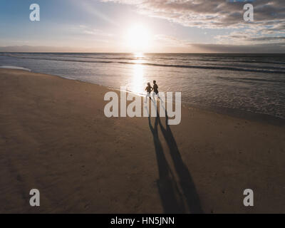
[[187,106],[180,125],[106,118],[103,86],[0,81],[0,213],[285,213],[284,125]]

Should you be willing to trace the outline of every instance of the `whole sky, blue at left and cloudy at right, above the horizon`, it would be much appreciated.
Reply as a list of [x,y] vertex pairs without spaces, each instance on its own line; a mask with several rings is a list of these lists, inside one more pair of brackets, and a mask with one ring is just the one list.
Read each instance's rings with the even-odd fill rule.
[[1,0],[0,51],[285,53],[285,1]]

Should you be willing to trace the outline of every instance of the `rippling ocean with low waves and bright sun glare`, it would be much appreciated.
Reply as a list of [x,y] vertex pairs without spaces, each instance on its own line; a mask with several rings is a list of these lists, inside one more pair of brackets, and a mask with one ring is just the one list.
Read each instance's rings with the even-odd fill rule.
[[285,119],[284,54],[0,53],[0,66],[138,94],[156,80],[185,103]]

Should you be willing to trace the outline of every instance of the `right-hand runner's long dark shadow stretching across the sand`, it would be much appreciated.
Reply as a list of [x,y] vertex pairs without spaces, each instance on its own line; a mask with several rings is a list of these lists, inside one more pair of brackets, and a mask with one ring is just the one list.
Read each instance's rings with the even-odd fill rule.
[[199,196],[197,194],[195,184],[192,180],[192,176],[189,170],[187,169],[187,166],[182,160],[180,151],[177,146],[177,142],[172,134],[170,125],[168,125],[168,115],[166,110],[165,110],[165,117],[166,117],[165,118],[166,128],[163,127],[159,117],[157,118],[157,120],[159,122],[160,129],[162,130],[162,135],[165,138],[167,145],[170,149],[170,155],[175,165],[175,170],[177,172],[177,175],[180,179],[180,186],[182,188],[183,195],[186,198],[186,202],[190,209],[190,212],[202,214],[203,210],[199,202]]

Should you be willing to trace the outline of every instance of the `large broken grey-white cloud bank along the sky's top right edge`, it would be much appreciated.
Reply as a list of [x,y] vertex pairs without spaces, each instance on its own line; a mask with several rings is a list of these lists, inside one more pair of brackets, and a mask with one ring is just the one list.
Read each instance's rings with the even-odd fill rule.
[[[274,27],[284,30],[284,0],[101,0],[130,4],[140,14],[199,28]],[[254,5],[254,23],[244,21],[244,4]]]

